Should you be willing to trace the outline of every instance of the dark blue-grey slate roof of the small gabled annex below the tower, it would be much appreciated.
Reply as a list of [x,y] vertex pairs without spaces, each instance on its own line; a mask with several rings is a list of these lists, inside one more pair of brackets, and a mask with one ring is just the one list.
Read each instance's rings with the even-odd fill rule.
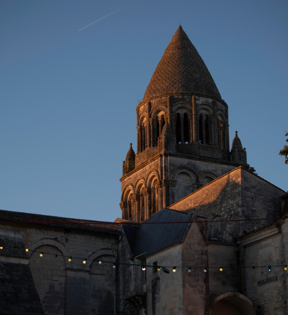
[[[162,209],[153,214],[146,222],[189,222],[191,218],[192,213]],[[188,225],[188,223],[143,224],[138,229],[123,225],[123,229],[134,256],[145,252],[146,257],[181,242]]]

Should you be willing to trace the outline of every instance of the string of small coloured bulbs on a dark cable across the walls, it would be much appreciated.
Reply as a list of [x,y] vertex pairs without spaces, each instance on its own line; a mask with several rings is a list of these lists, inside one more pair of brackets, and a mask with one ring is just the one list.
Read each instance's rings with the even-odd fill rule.
[[[40,251],[35,251],[35,250],[29,250],[28,248],[20,248],[17,246],[9,246],[9,245],[2,245],[0,244],[0,254],[1,254],[1,250],[3,250],[4,247],[7,248],[13,248],[13,249],[18,249],[21,251],[25,251],[25,252],[37,252],[40,253],[40,257],[43,257],[45,255],[54,255],[55,257],[58,256],[62,256],[62,257],[66,257],[68,258],[68,261],[71,262],[72,259],[79,259],[82,260],[83,264],[86,264],[87,261],[95,261],[95,259],[89,259],[89,258],[82,258],[82,257],[73,257],[73,256],[66,256],[66,255],[59,255],[59,254],[55,254],[55,253],[51,253],[51,252],[40,252]],[[97,261],[97,260],[96,260]],[[157,268],[158,271],[162,270],[164,273],[170,273],[170,270],[173,271],[173,273],[176,273],[177,269],[187,269],[187,271],[190,273],[192,269],[202,269],[204,273],[207,273],[209,269],[218,269],[220,272],[223,272],[224,269],[231,269],[231,268],[240,268],[241,270],[244,268],[248,268],[248,269],[252,269],[253,271],[255,271],[256,268],[266,268],[268,269],[268,272],[272,271],[272,268],[276,268],[276,267],[283,267],[283,269],[285,271],[287,271],[287,266],[288,264],[283,264],[283,265],[265,265],[265,266],[238,266],[238,265],[234,265],[234,266],[154,266],[154,265],[143,265],[143,264],[130,264],[130,263],[124,263],[124,262],[116,262],[116,261],[105,261],[105,260],[98,260],[97,261],[99,265],[103,264],[103,263],[108,263],[108,264],[112,264],[112,267],[115,269],[117,265],[125,265],[125,266],[137,266],[137,267],[141,267],[142,270],[146,270],[146,268]]]

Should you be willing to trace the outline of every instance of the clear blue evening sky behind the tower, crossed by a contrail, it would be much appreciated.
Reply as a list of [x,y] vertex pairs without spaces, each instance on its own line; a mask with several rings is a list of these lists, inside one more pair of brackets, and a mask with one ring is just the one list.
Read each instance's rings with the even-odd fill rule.
[[0,209],[121,217],[136,106],[179,22],[250,166],[288,189],[287,0],[0,1]]

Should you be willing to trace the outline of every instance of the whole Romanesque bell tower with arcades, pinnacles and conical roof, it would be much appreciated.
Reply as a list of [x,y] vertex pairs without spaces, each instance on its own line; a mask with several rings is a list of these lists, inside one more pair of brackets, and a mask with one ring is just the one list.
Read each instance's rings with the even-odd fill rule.
[[148,219],[233,168],[247,164],[228,106],[181,26],[137,106],[137,153],[123,161],[122,218]]

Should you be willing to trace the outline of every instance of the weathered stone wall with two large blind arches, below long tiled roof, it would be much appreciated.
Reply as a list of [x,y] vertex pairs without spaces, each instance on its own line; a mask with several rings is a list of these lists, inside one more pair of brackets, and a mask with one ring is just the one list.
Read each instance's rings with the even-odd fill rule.
[[[119,236],[31,224],[2,223],[0,226],[21,231],[28,249],[53,253],[40,257],[37,252],[28,252],[45,314],[114,314],[115,270],[108,264],[97,266],[95,260],[115,261]],[[62,255],[81,259],[72,259],[70,263]],[[83,258],[93,262],[87,261],[84,265]]]

